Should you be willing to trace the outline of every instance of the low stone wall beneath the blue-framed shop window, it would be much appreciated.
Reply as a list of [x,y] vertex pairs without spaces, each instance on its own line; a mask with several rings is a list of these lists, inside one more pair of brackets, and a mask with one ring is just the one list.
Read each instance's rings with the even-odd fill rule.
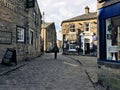
[[114,65],[110,63],[106,64],[110,67],[102,65],[99,69],[98,80],[100,83],[108,88],[108,90],[120,90],[120,68],[117,65],[116,68],[113,68]]

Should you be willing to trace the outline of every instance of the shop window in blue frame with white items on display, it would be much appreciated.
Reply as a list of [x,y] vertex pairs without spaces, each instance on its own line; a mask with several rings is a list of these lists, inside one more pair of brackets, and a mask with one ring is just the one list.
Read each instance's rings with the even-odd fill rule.
[[[118,20],[119,19],[119,20]],[[106,19],[106,55],[108,60],[120,60],[120,16]]]

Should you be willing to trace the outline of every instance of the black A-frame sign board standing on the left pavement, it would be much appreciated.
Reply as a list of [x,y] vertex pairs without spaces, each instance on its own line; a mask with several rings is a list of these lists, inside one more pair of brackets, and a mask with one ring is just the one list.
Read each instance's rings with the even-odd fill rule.
[[2,64],[11,65],[11,63],[15,63],[17,65],[16,50],[12,48],[8,48],[2,59]]

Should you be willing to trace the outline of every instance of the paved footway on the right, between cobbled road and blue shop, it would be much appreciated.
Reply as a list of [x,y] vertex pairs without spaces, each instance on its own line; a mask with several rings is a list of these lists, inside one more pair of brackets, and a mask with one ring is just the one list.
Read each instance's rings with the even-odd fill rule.
[[83,67],[85,73],[88,75],[89,80],[93,84],[95,90],[106,90],[103,86],[101,86],[98,82],[98,64],[97,57],[90,55],[66,55],[69,58],[72,58],[80,63]]

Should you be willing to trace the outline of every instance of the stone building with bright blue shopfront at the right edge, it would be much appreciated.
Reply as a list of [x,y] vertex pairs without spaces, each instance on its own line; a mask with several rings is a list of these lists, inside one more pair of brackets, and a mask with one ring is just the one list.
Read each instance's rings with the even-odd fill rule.
[[98,80],[106,90],[120,90],[120,0],[98,0]]

